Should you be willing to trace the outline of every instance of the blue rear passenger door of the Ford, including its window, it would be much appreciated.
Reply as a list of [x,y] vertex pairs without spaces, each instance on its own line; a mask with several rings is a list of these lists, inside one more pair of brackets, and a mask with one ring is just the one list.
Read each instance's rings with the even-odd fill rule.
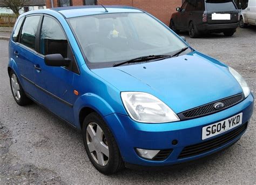
[[27,16],[14,46],[15,61],[21,74],[25,92],[37,100],[35,86],[35,62],[37,60],[37,37],[41,15]]

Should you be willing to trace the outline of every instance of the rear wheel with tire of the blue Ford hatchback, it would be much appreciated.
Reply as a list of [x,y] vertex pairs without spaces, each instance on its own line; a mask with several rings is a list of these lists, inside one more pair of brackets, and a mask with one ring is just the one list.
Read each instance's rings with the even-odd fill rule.
[[20,106],[31,104],[32,100],[26,96],[15,72],[11,70],[9,77],[10,77],[11,93],[15,101],[17,102],[17,104]]

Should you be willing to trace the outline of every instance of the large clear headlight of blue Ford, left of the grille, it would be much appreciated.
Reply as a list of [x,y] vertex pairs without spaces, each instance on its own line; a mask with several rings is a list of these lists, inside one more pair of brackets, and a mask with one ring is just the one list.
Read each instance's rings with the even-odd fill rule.
[[121,98],[130,117],[138,122],[161,123],[179,121],[170,107],[151,94],[122,92]]

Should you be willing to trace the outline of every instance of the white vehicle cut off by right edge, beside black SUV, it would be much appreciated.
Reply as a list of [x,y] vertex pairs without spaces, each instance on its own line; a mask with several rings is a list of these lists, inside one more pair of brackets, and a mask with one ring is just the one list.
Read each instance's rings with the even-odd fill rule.
[[245,28],[248,24],[256,25],[256,0],[247,0],[241,4],[239,26]]

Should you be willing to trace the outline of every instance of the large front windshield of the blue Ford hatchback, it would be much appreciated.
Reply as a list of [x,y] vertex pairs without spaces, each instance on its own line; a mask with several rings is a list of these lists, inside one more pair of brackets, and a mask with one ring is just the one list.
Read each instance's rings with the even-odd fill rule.
[[112,67],[142,56],[173,54],[186,47],[146,13],[75,17],[69,19],[69,24],[90,68]]

